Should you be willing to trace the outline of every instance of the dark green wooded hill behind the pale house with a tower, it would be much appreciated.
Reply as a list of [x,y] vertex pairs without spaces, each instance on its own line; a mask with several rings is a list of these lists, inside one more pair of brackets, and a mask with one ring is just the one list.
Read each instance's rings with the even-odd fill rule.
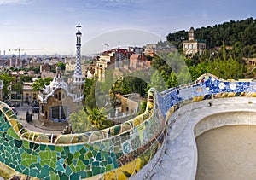
[[[181,30],[169,33],[166,38],[177,49],[181,50],[182,42],[184,39],[188,39],[188,36],[189,30]],[[196,28],[195,38],[206,40],[207,49],[219,47],[223,42],[227,46],[233,46],[238,42],[242,48],[254,49],[256,44],[256,20],[250,17],[246,20],[230,20],[230,22],[214,26]]]

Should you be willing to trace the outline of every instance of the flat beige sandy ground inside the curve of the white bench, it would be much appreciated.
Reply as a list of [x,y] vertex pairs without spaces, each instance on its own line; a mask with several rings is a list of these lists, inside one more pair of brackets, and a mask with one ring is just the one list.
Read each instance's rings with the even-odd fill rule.
[[255,179],[256,125],[224,126],[196,138],[196,179]]

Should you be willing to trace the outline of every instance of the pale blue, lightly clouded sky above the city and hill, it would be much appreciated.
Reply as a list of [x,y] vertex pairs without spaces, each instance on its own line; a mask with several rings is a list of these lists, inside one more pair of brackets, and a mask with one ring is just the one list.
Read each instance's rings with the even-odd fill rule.
[[0,51],[74,55],[80,23],[82,54],[96,54],[105,44],[142,46],[191,26],[255,18],[255,8],[253,0],[0,0]]

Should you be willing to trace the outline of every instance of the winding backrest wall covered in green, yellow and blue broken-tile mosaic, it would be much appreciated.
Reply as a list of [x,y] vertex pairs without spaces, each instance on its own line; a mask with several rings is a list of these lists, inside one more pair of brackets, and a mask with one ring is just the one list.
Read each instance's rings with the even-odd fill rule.
[[23,128],[0,103],[0,177],[32,179],[127,179],[165,142],[172,114],[183,105],[211,98],[256,96],[252,79],[224,80],[204,74],[194,83],[148,91],[146,111],[121,125],[83,134],[54,135]]

